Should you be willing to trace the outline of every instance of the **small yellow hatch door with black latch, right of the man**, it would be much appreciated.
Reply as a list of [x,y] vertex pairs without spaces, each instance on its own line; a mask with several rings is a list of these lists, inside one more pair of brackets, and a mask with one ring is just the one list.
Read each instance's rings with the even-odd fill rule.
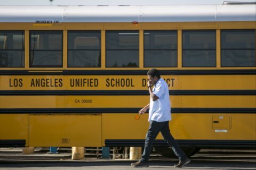
[[230,129],[230,116],[212,116],[212,129]]

